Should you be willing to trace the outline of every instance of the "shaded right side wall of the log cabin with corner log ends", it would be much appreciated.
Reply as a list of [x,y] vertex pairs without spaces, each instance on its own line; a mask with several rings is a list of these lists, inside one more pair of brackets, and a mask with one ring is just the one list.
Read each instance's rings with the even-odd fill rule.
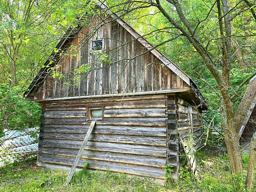
[[[187,141],[194,141],[194,147],[197,149],[204,138],[204,128],[201,108],[195,108],[189,102],[177,95],[168,96],[168,120],[167,120],[167,133],[170,141],[177,141],[177,170],[183,166],[183,156],[186,154],[180,138]],[[190,116],[190,118],[189,118]],[[191,122],[192,120],[192,122]],[[174,145],[170,145],[173,147]],[[169,158],[169,160],[172,158]],[[166,162],[167,164],[168,161]]]

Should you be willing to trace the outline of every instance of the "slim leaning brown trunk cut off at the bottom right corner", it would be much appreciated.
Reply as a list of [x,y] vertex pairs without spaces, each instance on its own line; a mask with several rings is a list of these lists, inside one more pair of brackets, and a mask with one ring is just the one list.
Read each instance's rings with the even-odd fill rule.
[[255,169],[255,156],[256,156],[256,133],[253,134],[253,137],[251,139],[251,145],[250,145],[247,179],[245,182],[245,185],[248,191],[252,190],[253,176],[254,176],[254,169]]

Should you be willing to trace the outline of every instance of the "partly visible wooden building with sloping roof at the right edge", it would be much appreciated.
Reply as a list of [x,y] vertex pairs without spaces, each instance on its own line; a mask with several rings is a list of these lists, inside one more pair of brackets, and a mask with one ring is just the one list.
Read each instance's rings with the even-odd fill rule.
[[236,111],[237,132],[241,148],[249,151],[250,141],[256,131],[256,78],[247,87]]

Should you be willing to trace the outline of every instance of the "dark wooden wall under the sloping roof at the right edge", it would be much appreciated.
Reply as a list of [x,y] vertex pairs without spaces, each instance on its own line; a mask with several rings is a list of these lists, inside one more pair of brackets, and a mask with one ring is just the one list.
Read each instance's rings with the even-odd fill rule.
[[[247,125],[244,128],[244,132],[241,135],[239,140],[241,148],[245,148],[245,151],[250,150],[250,141],[253,137],[253,134],[256,132],[256,107],[253,108],[253,112],[247,122]],[[248,145],[249,144],[249,145]]]

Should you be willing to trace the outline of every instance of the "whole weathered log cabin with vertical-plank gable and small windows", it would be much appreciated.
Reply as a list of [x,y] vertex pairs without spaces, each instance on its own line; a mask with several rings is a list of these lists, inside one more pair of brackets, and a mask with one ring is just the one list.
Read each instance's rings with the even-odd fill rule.
[[200,145],[207,102],[124,20],[111,14],[91,21],[69,30],[24,93],[42,106],[38,166],[71,166],[96,120],[78,167],[164,180],[169,164],[177,179],[180,138]]

